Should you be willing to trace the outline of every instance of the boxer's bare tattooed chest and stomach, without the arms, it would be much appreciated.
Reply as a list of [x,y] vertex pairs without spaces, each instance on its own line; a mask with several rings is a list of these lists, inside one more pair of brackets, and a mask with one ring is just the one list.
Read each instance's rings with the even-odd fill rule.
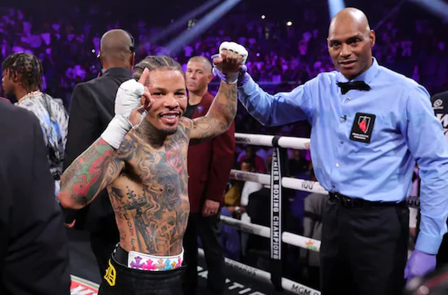
[[127,136],[121,148],[136,146],[123,173],[109,188],[122,247],[154,255],[175,255],[190,211],[187,149],[182,133],[153,148]]

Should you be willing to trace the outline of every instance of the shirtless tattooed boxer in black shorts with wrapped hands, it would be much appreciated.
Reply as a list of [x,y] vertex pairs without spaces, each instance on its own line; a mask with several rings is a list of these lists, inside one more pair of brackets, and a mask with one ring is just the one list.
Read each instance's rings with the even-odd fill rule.
[[100,295],[181,294],[182,238],[190,208],[189,141],[229,128],[237,111],[238,71],[247,57],[238,44],[225,44],[233,51],[221,51],[221,46],[214,64],[228,73],[227,80],[207,115],[182,117],[187,97],[181,65],[168,56],[148,56],[135,66],[138,82],[120,86],[108,128],[62,176],[59,199],[65,207],[82,208],[108,189],[120,244]]

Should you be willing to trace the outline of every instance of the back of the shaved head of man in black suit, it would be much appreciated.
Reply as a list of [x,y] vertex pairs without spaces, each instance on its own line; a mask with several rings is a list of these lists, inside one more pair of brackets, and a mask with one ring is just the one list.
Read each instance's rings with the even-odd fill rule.
[[99,49],[103,68],[132,68],[133,46],[131,36],[125,30],[113,29],[104,33]]

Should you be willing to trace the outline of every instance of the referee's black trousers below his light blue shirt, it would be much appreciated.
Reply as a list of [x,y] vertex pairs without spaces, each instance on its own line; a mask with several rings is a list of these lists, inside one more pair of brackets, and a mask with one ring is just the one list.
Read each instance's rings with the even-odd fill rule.
[[323,210],[322,295],[397,295],[405,286],[409,237],[406,202]]

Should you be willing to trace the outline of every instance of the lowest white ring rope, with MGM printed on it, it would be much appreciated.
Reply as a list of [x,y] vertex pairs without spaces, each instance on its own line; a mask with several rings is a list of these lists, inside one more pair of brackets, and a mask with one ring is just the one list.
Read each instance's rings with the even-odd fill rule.
[[[198,255],[204,257],[204,250],[201,248],[198,249]],[[261,278],[263,281],[271,283],[271,274],[262,269],[258,269],[249,265],[245,265],[241,262],[234,261],[227,257],[224,257],[225,263],[228,267],[239,270],[245,274],[248,274],[253,277]],[[314,290],[308,286],[299,284],[297,282],[293,282],[287,278],[281,279],[281,286],[284,290],[290,291],[294,294],[307,294],[307,295],[320,295],[320,291]]]

